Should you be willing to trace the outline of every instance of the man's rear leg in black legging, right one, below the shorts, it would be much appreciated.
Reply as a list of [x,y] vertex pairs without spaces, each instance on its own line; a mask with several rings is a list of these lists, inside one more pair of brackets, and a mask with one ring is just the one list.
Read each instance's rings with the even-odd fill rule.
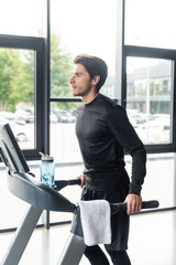
[[131,265],[130,258],[125,251],[108,251],[113,265]]

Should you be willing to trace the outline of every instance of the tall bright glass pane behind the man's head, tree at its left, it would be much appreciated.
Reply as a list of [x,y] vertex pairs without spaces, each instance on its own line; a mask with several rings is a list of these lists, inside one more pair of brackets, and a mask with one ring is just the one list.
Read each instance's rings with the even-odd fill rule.
[[[98,12],[100,7],[101,11]],[[114,76],[116,32],[116,0],[51,1],[52,97],[73,96],[68,81],[73,59],[80,53],[102,57],[109,67],[109,78]],[[111,83],[113,85],[114,80]],[[113,97],[112,85],[102,92]]]

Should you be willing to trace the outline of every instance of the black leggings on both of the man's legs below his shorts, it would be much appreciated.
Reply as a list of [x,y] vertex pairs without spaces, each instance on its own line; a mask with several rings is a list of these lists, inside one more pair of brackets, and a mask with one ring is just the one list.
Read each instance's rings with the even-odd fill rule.
[[[130,258],[125,251],[108,251],[113,265],[131,265]],[[87,246],[86,257],[91,265],[109,265],[109,261],[103,251],[98,246]]]

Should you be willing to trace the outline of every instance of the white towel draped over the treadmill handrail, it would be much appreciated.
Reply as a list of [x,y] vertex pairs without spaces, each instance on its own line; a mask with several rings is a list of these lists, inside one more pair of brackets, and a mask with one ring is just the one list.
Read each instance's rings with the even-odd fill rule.
[[111,243],[111,211],[106,200],[79,201],[80,220],[87,246]]

